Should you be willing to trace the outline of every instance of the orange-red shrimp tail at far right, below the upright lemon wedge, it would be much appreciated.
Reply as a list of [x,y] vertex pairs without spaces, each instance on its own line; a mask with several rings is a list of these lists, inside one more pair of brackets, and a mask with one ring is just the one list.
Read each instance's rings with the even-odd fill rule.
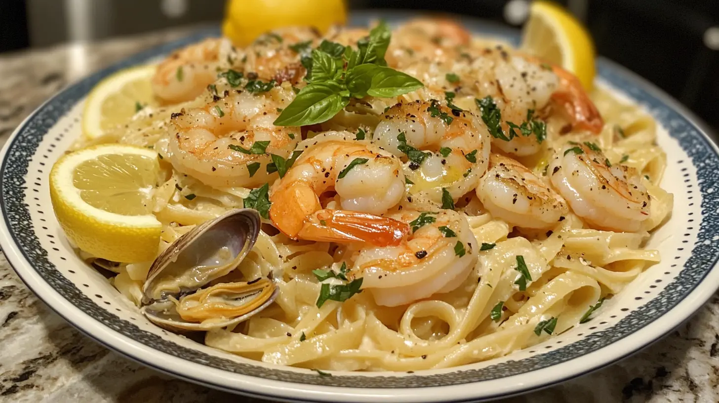
[[582,88],[582,83],[577,76],[556,65],[552,67],[552,71],[559,76],[560,89],[555,91],[551,97],[567,110],[569,117],[572,118],[572,127],[592,133],[601,132],[604,127],[604,119],[585,89]]

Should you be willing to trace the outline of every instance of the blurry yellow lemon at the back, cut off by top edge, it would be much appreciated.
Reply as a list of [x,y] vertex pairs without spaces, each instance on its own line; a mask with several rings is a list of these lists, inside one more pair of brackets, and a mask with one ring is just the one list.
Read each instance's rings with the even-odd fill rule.
[[275,28],[311,24],[326,32],[333,24],[344,24],[344,0],[230,0],[222,23],[222,35],[236,46],[247,46]]

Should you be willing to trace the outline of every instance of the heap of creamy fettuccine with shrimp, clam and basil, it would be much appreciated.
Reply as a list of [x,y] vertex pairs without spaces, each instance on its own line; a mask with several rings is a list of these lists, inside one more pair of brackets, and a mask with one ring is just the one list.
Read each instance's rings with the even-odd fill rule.
[[211,347],[459,366],[591,320],[659,262],[654,119],[455,22],[209,39],[162,60],[152,91],[160,106],[75,148],[157,154],[156,258],[81,254]]

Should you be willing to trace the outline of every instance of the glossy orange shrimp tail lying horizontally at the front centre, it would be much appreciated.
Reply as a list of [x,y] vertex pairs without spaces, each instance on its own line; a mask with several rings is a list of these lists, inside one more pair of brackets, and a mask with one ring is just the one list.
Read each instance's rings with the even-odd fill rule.
[[321,209],[309,215],[298,237],[323,242],[365,242],[397,246],[409,225],[388,217],[347,210]]

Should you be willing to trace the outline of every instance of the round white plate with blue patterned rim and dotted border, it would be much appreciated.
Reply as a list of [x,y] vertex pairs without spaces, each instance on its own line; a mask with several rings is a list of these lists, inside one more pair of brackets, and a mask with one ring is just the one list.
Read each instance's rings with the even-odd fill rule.
[[[384,14],[385,17],[387,14]],[[357,23],[368,14],[355,14]],[[396,16],[395,16],[396,17]],[[392,17],[390,16],[390,19]],[[514,32],[473,30],[512,41]],[[334,373],[273,366],[223,353],[150,324],[68,245],[52,214],[47,175],[80,135],[83,99],[119,68],[218,35],[216,30],[129,58],[61,91],[20,124],[2,151],[0,244],[35,294],[88,337],[147,366],[226,391],[293,401],[464,402],[549,386],[620,360],[690,317],[719,285],[719,155],[697,119],[623,68],[598,60],[598,82],[644,105],[668,153],[663,186],[674,212],[649,248],[662,261],[605,303],[595,319],[540,345],[482,363],[416,373]]]

